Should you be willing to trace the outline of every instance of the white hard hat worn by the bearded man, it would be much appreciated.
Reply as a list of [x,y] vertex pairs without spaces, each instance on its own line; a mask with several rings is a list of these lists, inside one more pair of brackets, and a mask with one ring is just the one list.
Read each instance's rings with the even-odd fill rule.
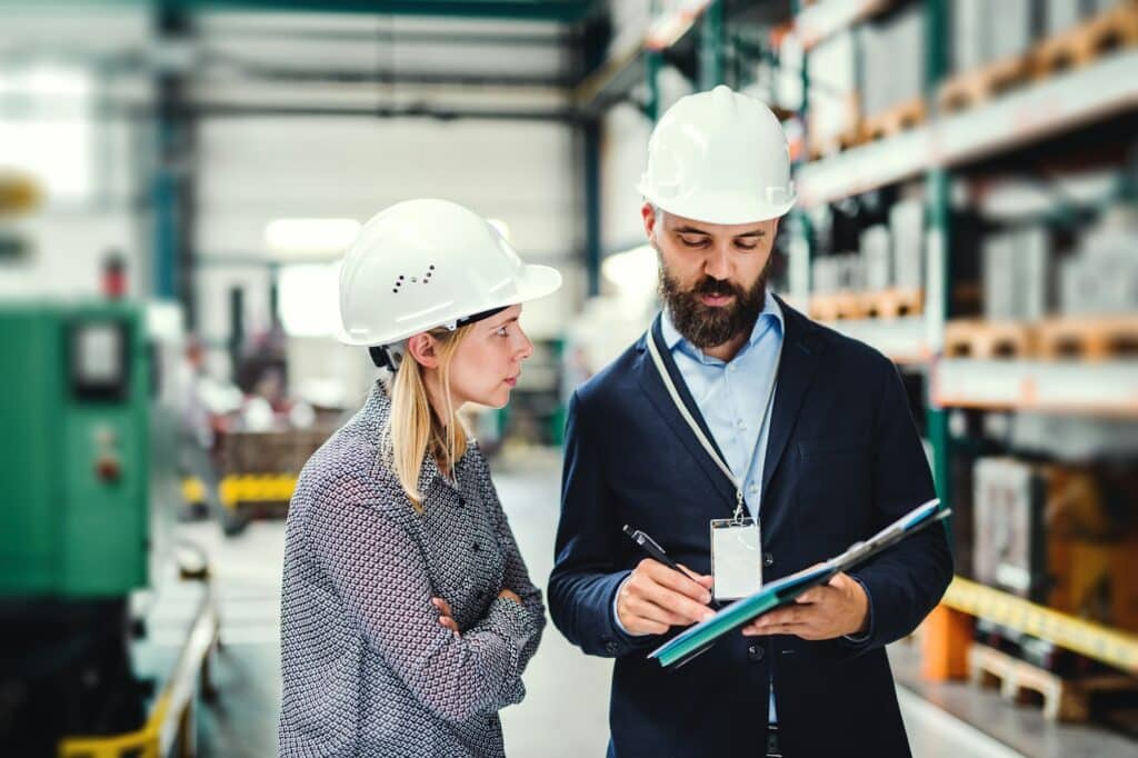
[[795,199],[786,134],[770,108],[728,86],[688,94],[652,131],[637,189],[653,205],[695,221],[776,219]]

